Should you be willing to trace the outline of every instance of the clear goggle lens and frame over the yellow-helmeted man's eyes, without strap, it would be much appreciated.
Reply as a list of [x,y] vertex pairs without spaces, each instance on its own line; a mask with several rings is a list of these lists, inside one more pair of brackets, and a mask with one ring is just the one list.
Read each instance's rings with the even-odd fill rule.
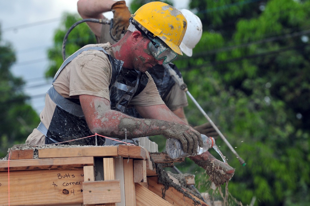
[[148,50],[152,53],[155,59],[164,59],[163,64],[170,63],[178,56],[178,54],[166,46],[166,44],[160,38],[151,38],[149,36],[148,38],[151,40],[151,42],[148,43]]

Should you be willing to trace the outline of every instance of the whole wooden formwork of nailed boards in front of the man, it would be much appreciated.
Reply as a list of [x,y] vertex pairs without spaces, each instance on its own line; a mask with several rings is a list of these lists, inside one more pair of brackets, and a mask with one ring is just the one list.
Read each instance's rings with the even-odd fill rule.
[[36,159],[28,149],[0,161],[0,205],[206,205],[158,183],[153,162],[169,163],[167,156],[141,146],[37,150]]

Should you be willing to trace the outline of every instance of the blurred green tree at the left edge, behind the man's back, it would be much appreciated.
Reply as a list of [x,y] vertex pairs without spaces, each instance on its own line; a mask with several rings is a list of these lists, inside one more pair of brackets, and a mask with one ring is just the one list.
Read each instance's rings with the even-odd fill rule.
[[23,79],[10,71],[15,61],[11,43],[3,42],[0,33],[0,157],[7,155],[13,145],[25,143],[40,122],[29,104],[29,96],[23,92]]

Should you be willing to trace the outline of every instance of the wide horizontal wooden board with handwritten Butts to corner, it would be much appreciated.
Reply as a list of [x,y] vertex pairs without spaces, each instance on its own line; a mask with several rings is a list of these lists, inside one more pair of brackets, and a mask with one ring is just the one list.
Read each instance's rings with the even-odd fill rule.
[[83,203],[83,168],[0,172],[0,205]]

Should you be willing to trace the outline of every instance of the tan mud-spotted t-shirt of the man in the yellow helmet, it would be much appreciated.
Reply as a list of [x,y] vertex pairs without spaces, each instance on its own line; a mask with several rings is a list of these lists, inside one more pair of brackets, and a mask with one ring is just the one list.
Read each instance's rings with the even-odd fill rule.
[[[103,47],[107,53],[113,56],[111,44],[87,45],[85,47]],[[148,75],[146,87],[130,101],[131,105],[151,106],[164,104],[159,96],[152,77]],[[110,101],[109,85],[112,75],[112,66],[108,56],[101,51],[88,50],[79,54],[69,62],[60,72],[53,83],[55,90],[65,98],[78,98],[78,95],[91,95],[105,98]],[[49,127],[55,110],[55,103],[46,95],[45,106],[40,114],[41,122]],[[45,136],[34,129],[26,140],[29,145],[42,145]]]

